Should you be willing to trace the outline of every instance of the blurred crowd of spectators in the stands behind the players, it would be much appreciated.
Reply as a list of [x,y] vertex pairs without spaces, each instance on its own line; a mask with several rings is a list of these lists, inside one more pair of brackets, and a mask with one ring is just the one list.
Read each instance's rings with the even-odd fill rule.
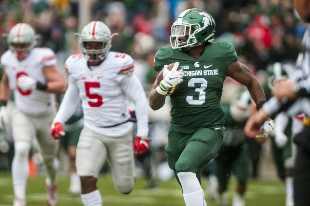
[[[136,60],[136,73],[152,83],[156,51],[169,45],[172,22],[181,11],[201,8],[216,22],[216,40],[233,43],[242,63],[253,72],[274,62],[294,62],[305,26],[290,0],[88,0],[91,19],[104,21],[112,33],[111,51]],[[18,22],[29,23],[38,34],[38,47],[50,47],[60,60],[79,52],[78,0],[3,0],[0,2],[0,55],[5,35]],[[84,25],[82,25],[84,26]],[[59,65],[63,61],[60,61]],[[61,69],[61,68],[60,68]]]

